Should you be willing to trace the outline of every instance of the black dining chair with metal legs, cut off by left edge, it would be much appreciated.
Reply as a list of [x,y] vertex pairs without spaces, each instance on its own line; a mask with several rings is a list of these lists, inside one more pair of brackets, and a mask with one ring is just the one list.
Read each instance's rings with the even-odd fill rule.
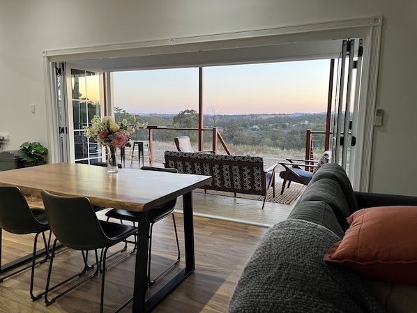
[[[33,301],[38,300],[43,296],[44,292],[36,296],[33,294],[35,266],[47,261],[49,257],[49,245],[51,239],[51,235],[49,236],[48,241],[45,236],[45,231],[50,230],[45,210],[43,208],[30,208],[19,188],[15,186],[0,186],[0,228],[12,234],[36,234],[33,242],[31,265],[19,268],[13,273],[8,273],[8,275],[0,278],[0,282],[3,282],[6,278],[16,275],[23,270],[31,268],[29,292]],[[38,254],[38,236],[40,234],[43,236],[43,243],[45,245],[45,257],[36,261]]]

